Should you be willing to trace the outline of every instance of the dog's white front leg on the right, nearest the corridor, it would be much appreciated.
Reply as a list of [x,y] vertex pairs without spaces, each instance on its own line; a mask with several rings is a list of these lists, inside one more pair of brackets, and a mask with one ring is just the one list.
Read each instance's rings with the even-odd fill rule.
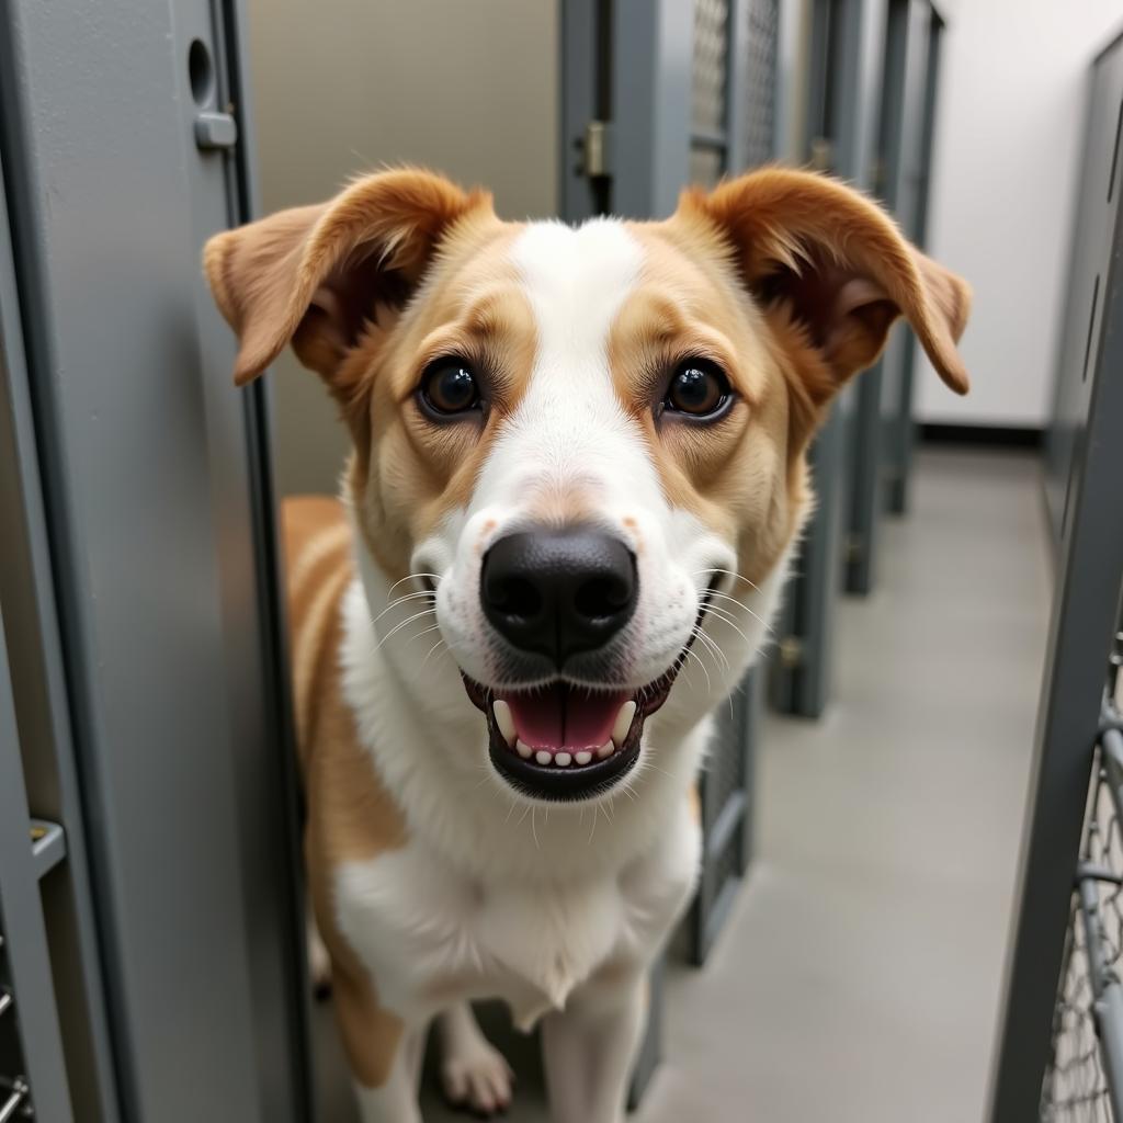
[[554,1123],[621,1123],[647,1013],[647,977],[593,980],[542,1023]]

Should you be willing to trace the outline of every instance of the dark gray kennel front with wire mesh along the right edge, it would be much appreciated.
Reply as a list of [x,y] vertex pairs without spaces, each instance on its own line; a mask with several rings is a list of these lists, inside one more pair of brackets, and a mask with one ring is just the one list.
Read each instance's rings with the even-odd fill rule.
[[988,1119],[1123,1120],[1123,37],[1095,60],[1047,497],[1057,581]]

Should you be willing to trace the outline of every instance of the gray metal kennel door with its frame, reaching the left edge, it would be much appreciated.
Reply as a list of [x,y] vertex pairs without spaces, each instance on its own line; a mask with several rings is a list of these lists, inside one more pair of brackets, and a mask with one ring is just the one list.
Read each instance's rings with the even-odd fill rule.
[[7,866],[0,898],[26,1071],[65,1056],[45,1123],[309,1119],[266,400],[200,267],[252,210],[241,15],[0,6],[4,796],[66,841],[38,967]]

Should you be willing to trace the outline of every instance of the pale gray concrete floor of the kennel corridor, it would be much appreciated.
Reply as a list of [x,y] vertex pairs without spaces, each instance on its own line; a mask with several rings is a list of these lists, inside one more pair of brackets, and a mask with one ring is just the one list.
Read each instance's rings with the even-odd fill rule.
[[[824,720],[769,715],[758,857],[710,962],[673,962],[637,1123],[975,1123],[1051,573],[1037,459],[925,450],[844,600]],[[321,1008],[321,1117],[354,1119]],[[502,1021],[502,1019],[500,1019]],[[531,1042],[511,1119],[547,1119]],[[432,1090],[427,1123],[449,1113]]]

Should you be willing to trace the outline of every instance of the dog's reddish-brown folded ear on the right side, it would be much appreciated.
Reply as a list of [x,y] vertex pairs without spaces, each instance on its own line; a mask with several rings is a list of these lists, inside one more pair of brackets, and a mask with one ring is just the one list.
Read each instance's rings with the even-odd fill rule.
[[940,377],[967,393],[956,344],[970,289],[910,245],[865,195],[822,175],[773,167],[711,194],[687,192],[679,212],[716,228],[742,283],[810,348],[814,362],[802,374],[813,407],[874,363],[901,314]]

